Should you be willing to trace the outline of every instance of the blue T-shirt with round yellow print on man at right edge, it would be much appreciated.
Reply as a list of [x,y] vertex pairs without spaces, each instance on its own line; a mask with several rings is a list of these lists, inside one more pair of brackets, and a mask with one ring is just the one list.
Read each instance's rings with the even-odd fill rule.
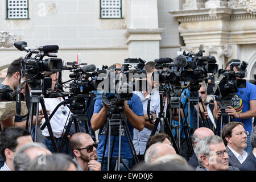
[[[232,98],[232,106],[236,109],[237,113],[245,113],[250,110],[251,100],[256,100],[256,86],[246,81],[246,88],[238,88],[238,92]],[[236,121],[242,122],[245,125],[245,130],[251,134],[253,118],[236,118]]]

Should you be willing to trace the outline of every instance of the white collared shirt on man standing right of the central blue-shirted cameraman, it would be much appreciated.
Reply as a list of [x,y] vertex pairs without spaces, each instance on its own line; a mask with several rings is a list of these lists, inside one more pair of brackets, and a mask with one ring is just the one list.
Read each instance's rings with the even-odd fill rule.
[[[147,114],[147,102],[148,100],[151,100],[150,114],[156,113],[156,117],[158,117],[158,114],[160,112],[160,95],[158,90],[152,89],[151,93],[148,94],[145,98],[142,92],[134,92],[134,94],[137,94],[137,96],[141,98],[144,114]],[[166,111],[166,105],[164,107],[164,111]],[[160,125],[158,125],[158,130],[160,130],[159,126]],[[146,150],[147,140],[150,137],[152,130],[144,127],[142,131],[134,129],[133,133],[134,133],[133,144],[134,144],[136,153],[137,155],[143,155]]]

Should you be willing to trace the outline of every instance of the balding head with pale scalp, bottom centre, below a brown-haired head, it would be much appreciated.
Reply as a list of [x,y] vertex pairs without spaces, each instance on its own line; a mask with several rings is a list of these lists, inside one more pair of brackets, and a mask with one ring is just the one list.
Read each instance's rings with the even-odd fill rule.
[[174,147],[166,143],[155,143],[145,153],[145,163],[152,163],[161,156],[176,154]]

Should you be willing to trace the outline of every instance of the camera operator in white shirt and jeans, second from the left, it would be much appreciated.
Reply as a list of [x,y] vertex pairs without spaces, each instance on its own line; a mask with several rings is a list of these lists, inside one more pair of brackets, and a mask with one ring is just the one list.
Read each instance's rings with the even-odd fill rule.
[[[54,90],[56,81],[59,77],[59,72],[44,72],[44,75],[46,77],[51,77],[52,78],[52,90]],[[52,111],[55,109],[55,107],[60,104],[60,102],[63,101],[63,98],[57,97],[57,98],[44,98],[44,104],[46,105],[46,109],[49,110],[49,114],[52,113]],[[41,109],[42,106],[39,105],[39,109]],[[51,127],[52,127],[52,132],[56,140],[57,146],[59,146],[63,136],[64,136],[64,127],[65,123],[67,121],[67,117],[69,114],[69,108],[68,106],[61,105],[55,114],[53,114],[53,117],[50,120]],[[43,119],[42,123],[44,123],[46,120]],[[48,149],[51,152],[54,152],[53,150],[53,145],[51,138],[49,137],[49,131],[47,127],[42,131],[42,134],[44,135],[44,144],[48,147]],[[68,134],[68,138],[70,138],[71,135]],[[69,154],[73,156],[73,152],[71,151],[71,148],[69,147],[69,142],[66,139],[63,147],[63,153]]]

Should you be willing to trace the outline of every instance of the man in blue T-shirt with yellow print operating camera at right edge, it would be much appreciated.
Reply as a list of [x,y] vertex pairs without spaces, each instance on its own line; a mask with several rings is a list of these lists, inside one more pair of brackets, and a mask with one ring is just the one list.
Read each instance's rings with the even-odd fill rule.
[[[230,69],[229,63],[226,64],[226,69]],[[233,67],[235,72],[239,72],[237,66]],[[237,79],[241,79],[237,77]],[[233,115],[236,121],[242,122],[247,131],[247,147],[245,151],[250,153],[253,151],[250,144],[250,134],[253,129],[253,117],[256,116],[256,86],[246,81],[246,88],[238,88],[238,92],[232,98],[232,106],[227,106],[226,113]]]

